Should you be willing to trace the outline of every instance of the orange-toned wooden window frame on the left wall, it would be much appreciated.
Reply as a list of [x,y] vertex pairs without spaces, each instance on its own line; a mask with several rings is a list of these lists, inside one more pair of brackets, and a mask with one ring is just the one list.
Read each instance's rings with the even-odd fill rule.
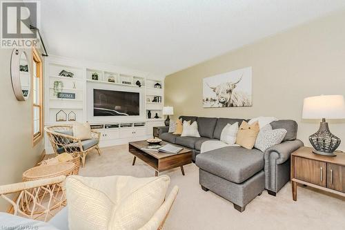
[[[36,77],[39,78],[39,104],[34,102],[33,84],[35,79],[33,65],[36,66]],[[39,132],[34,133],[34,108],[39,108]],[[43,139],[43,65],[42,59],[36,49],[32,48],[32,145],[35,146]]]

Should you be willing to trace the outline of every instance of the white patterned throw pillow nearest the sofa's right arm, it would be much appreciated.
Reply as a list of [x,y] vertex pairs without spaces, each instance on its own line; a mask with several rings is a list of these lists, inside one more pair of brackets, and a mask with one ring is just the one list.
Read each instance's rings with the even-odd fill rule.
[[260,129],[257,140],[255,140],[255,148],[264,152],[267,148],[282,143],[286,133],[287,131],[284,128],[272,129],[272,126],[267,124]]

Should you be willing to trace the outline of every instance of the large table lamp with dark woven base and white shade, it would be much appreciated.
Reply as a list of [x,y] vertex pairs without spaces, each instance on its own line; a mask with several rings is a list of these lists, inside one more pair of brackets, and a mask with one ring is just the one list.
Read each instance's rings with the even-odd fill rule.
[[302,118],[322,119],[319,130],[309,137],[309,141],[315,148],[313,153],[334,156],[334,151],[339,146],[340,139],[329,131],[326,119],[345,118],[344,96],[321,95],[306,97],[303,104]]

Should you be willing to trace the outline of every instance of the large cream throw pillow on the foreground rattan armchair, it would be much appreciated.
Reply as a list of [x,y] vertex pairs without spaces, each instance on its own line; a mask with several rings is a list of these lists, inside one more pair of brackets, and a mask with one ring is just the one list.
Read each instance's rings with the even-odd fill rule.
[[170,178],[66,179],[68,222],[77,229],[140,229],[164,202]]

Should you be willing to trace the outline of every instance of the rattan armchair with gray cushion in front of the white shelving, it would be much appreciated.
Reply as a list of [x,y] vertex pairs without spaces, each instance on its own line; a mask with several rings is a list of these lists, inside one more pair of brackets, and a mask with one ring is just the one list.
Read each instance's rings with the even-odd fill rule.
[[101,133],[97,131],[91,131],[92,139],[80,140],[77,137],[73,137],[72,125],[46,126],[44,130],[56,155],[60,153],[70,153],[73,157],[79,155],[82,166],[85,166],[86,155],[92,149],[96,149],[98,154],[101,155],[101,150],[99,149]]

